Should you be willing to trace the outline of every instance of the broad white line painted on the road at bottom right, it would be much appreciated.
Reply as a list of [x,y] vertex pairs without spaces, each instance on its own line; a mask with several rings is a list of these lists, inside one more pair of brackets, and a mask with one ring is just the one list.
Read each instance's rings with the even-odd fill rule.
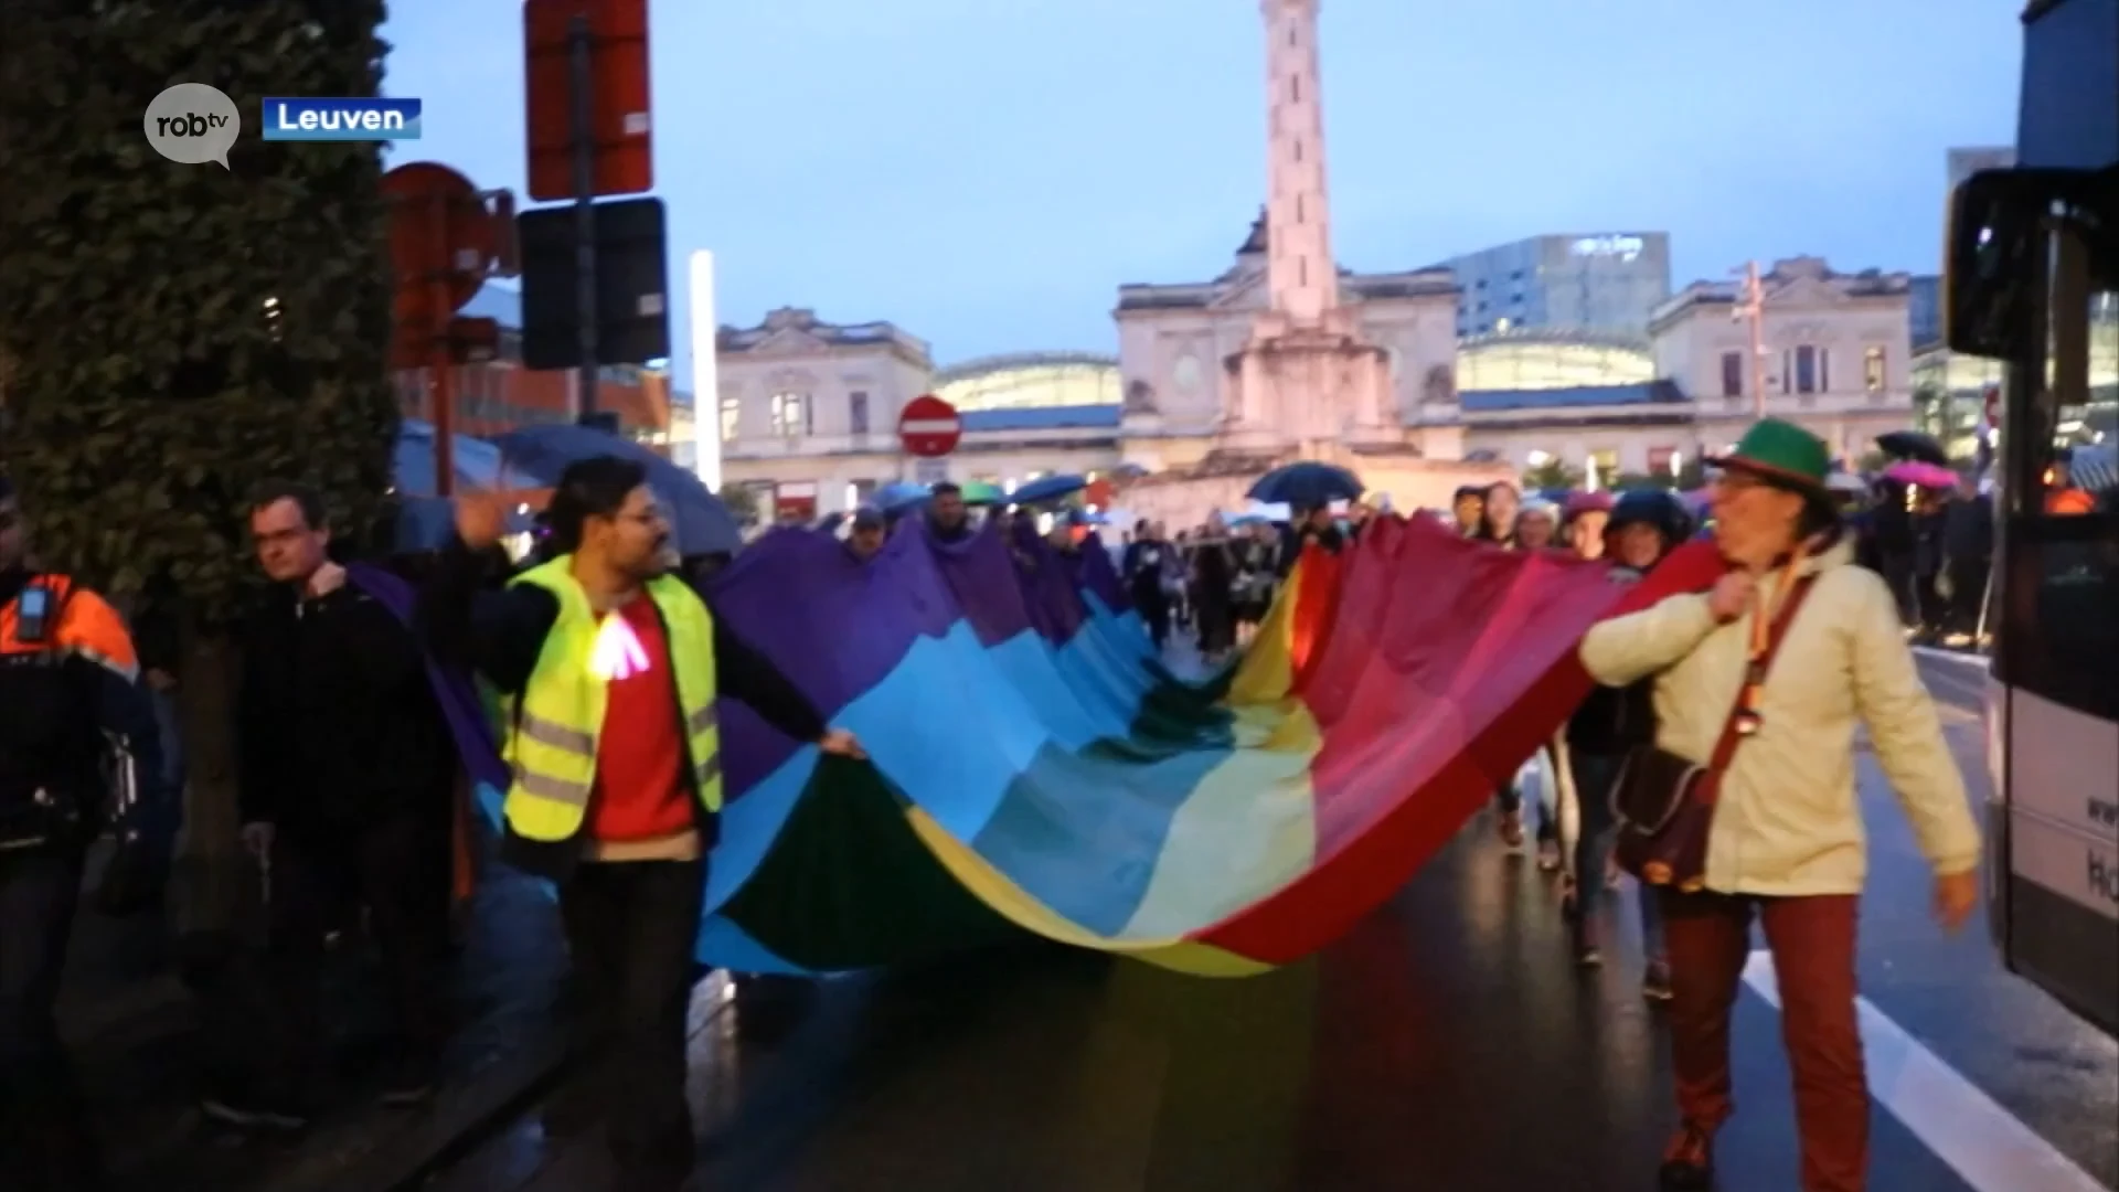
[[[1771,952],[1750,954],[1744,984],[1780,1010]],[[1975,1192],[2111,1192],[1867,997],[1854,1005],[1860,1012],[1869,1094]]]

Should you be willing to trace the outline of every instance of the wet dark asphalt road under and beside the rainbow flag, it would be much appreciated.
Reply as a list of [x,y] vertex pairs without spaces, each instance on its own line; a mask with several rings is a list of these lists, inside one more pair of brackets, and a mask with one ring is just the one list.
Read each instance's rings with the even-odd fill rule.
[[[1983,797],[1981,677],[1941,660],[1922,670]],[[1863,993],[1973,1090],[1937,1118],[1933,1090],[1949,1080],[1873,1069],[1873,1190],[2119,1190],[2119,1044],[2005,974],[1983,925],[1941,935],[1926,867],[1867,759],[1863,800]],[[1638,1192],[1655,1186],[1670,1124],[1638,971],[1632,937],[1602,971],[1577,971],[1551,878],[1479,821],[1350,937],[1267,978],[1204,982],[1040,946],[816,984],[716,978],[695,1003],[695,1186]],[[1797,1186],[1776,1018],[1767,997],[1742,995],[1723,1192]],[[2017,1158],[2043,1150],[2087,1179],[2009,1169],[2015,1135]],[[595,1141],[593,1111],[564,1092],[430,1188],[602,1190]]]

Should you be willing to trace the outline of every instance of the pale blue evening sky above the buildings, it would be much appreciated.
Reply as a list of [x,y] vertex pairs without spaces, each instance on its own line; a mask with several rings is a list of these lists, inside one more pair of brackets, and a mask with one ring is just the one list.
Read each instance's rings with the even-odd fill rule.
[[[396,0],[396,161],[523,187],[521,0]],[[1926,271],[1943,151],[2013,140],[2019,0],[1324,0],[1335,246],[1545,231]],[[1257,0],[655,0],[672,282],[723,322],[888,318],[937,363],[1115,350],[1121,282],[1229,265],[1263,197]],[[689,308],[676,373],[689,388]]]

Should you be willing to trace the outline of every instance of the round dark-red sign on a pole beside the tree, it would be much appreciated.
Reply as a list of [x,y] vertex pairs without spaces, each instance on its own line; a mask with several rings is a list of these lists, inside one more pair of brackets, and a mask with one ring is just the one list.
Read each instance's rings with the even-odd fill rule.
[[[485,199],[439,161],[409,161],[384,174],[390,204],[390,267],[396,274],[396,322],[424,341],[485,284],[500,231]],[[411,367],[420,367],[417,361]]]

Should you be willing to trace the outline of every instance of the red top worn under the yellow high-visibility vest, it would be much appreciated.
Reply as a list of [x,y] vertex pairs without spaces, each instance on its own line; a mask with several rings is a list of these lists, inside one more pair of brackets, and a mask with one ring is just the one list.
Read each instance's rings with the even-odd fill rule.
[[595,749],[595,791],[589,795],[589,836],[676,836],[695,821],[684,783],[684,734],[678,725],[676,674],[670,670],[670,636],[655,613],[655,600],[646,596],[606,615],[625,617],[648,666],[608,681],[604,732]]

